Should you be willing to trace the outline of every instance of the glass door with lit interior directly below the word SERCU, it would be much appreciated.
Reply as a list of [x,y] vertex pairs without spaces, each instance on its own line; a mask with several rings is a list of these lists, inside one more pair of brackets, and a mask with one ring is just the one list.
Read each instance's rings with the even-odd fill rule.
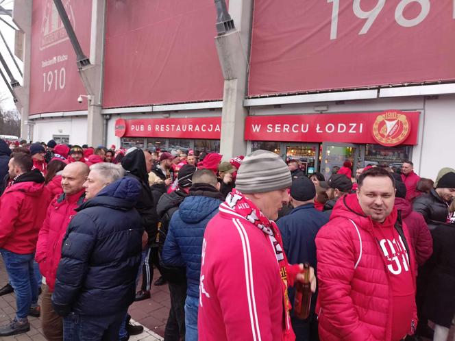
[[281,150],[286,151],[286,163],[289,160],[297,161],[300,169],[306,175],[311,175],[317,171],[319,144],[285,142]]

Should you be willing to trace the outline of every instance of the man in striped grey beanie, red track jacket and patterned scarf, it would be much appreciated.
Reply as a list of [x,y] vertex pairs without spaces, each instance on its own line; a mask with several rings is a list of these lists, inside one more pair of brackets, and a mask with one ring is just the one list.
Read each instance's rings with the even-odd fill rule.
[[[295,340],[287,288],[303,281],[303,264],[288,264],[273,222],[291,182],[275,153],[254,151],[243,160],[236,188],[204,234],[199,340]],[[314,270],[309,271],[315,292]]]

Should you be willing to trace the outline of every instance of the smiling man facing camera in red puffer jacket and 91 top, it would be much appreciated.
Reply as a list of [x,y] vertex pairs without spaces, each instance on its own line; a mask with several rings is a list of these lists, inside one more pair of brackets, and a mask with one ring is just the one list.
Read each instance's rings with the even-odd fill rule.
[[399,341],[417,325],[415,256],[393,177],[371,168],[317,234],[321,341]]

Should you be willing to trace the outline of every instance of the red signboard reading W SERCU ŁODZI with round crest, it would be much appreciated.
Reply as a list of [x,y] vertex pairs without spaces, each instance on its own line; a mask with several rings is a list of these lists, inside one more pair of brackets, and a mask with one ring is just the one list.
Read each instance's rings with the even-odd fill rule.
[[[407,128],[404,128],[404,123]],[[419,112],[397,110],[358,114],[248,116],[245,140],[380,143],[393,146],[417,144],[418,127]]]

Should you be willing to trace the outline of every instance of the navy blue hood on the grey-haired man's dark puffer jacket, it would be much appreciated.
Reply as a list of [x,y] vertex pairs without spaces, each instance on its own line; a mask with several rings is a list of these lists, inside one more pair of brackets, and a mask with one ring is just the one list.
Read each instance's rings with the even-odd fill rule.
[[133,177],[122,177],[100,190],[94,198],[77,208],[77,211],[95,206],[110,207],[121,211],[131,210],[136,206],[141,190],[138,180]]

